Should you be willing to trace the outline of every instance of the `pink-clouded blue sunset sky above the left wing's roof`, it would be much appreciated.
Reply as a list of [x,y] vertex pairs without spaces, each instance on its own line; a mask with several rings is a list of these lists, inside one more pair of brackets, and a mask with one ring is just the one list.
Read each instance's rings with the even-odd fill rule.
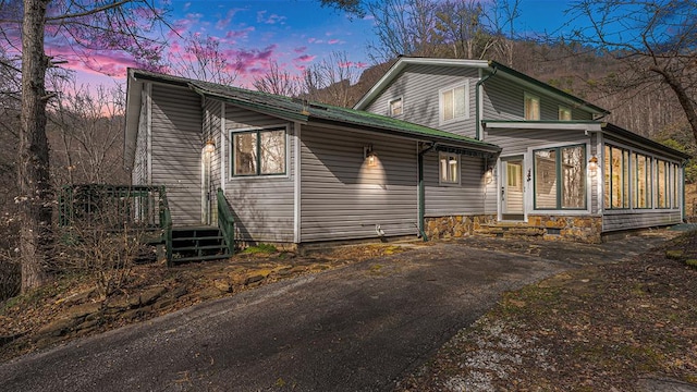
[[[184,58],[183,37],[199,35],[217,40],[219,52],[237,68],[235,84],[250,87],[272,61],[292,74],[326,59],[332,51],[347,53],[343,66],[369,65],[366,46],[372,36],[370,17],[351,17],[322,8],[315,0],[205,1],[171,0],[163,58]],[[69,46],[47,45],[47,52],[68,60],[63,65],[76,72],[81,84],[123,83],[129,66],[136,61],[123,52],[94,51],[78,57]],[[175,64],[171,66],[176,66]]]

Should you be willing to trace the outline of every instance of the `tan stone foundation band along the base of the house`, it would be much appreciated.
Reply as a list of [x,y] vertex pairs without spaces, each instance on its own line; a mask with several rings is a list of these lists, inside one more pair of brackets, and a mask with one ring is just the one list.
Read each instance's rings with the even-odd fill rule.
[[426,218],[430,240],[472,234],[494,237],[529,237],[597,244],[602,241],[601,217],[528,216],[527,222],[497,222],[493,215]]

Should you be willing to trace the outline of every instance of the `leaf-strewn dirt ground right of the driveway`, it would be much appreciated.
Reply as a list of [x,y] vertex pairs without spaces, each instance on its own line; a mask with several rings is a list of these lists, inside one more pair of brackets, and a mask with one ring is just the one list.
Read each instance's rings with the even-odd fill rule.
[[398,390],[695,391],[696,259],[692,232],[506,293]]

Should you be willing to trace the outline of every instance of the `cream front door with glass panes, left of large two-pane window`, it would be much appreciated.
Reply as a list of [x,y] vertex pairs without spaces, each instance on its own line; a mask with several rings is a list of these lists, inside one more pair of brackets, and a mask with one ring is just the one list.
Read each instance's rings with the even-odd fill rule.
[[501,158],[501,220],[524,220],[523,157]]

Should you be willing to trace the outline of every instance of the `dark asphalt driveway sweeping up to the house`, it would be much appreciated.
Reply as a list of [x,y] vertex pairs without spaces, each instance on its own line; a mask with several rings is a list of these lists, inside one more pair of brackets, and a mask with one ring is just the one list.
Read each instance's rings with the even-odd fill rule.
[[391,390],[503,291],[573,268],[579,257],[616,260],[659,241],[637,240],[626,252],[612,244],[487,250],[475,248],[487,243],[440,243],[20,357],[0,365],[0,389]]

